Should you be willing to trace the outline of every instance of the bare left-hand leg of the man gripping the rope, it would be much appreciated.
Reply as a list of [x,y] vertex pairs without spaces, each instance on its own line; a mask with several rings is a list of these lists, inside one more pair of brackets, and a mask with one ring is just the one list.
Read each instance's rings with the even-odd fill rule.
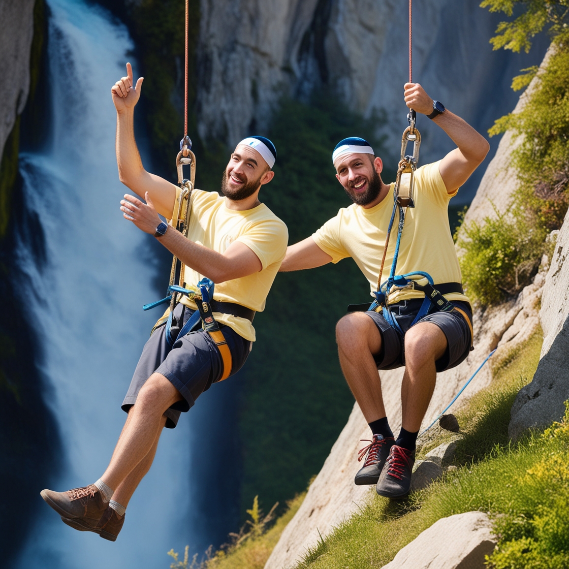
[[381,334],[363,312],[347,314],[336,324],[338,356],[344,377],[365,420],[385,417],[381,381],[373,354],[381,349]]

